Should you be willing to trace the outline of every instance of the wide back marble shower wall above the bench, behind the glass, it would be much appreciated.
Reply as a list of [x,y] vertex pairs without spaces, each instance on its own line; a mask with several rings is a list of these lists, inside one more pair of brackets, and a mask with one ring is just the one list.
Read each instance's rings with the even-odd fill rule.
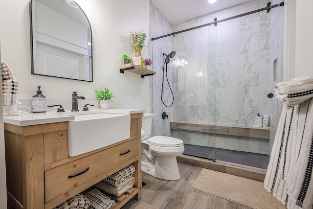
[[[249,1],[188,23],[213,22],[213,17],[221,20],[265,5]],[[173,120],[251,127],[257,113],[268,115],[269,34],[265,11],[177,34],[173,49],[188,64],[183,65],[184,93],[179,70],[173,72]]]

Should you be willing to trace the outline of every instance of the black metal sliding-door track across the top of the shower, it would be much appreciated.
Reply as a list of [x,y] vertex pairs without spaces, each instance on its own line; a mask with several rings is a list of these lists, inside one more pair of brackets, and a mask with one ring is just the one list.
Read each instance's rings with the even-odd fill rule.
[[196,27],[191,27],[189,29],[180,30],[180,31],[173,32],[173,33],[170,33],[170,34],[167,34],[167,35],[163,35],[163,36],[159,36],[159,37],[156,37],[156,38],[152,38],[151,41],[157,40],[157,39],[160,39],[160,38],[164,38],[164,37],[167,37],[167,36],[175,36],[176,34],[179,34],[179,33],[187,32],[187,31],[198,29],[198,28],[201,28],[201,27],[210,26],[212,24],[214,24],[216,26],[217,23],[222,23],[222,22],[225,22],[225,21],[229,21],[229,20],[232,20],[232,19],[235,19],[235,18],[240,18],[240,17],[246,16],[246,15],[250,15],[250,14],[253,14],[253,13],[261,12],[261,11],[264,11],[264,10],[267,10],[267,12],[270,12],[270,10],[272,8],[275,8],[275,7],[278,7],[278,6],[284,6],[284,2],[281,2],[281,3],[278,3],[278,4],[274,4],[272,6],[270,6],[270,4],[271,3],[268,2],[268,4],[267,4],[268,6],[267,7],[264,7],[264,8],[261,8],[261,9],[257,9],[257,10],[251,11],[251,12],[246,12],[246,13],[243,13],[241,15],[235,15],[235,16],[230,17],[230,18],[225,18],[225,19],[222,19],[222,20],[217,20],[217,18],[214,18],[214,22],[212,22],[212,23],[202,24],[202,25],[199,25],[199,26],[196,26]]

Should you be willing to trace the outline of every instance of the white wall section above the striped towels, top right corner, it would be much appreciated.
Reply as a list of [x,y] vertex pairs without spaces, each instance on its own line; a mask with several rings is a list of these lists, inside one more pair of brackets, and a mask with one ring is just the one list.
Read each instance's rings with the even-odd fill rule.
[[313,73],[313,1],[296,1],[295,77]]

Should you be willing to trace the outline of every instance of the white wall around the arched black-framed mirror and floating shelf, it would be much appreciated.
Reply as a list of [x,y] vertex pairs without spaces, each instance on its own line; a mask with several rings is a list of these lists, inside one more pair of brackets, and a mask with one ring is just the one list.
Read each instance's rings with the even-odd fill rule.
[[[85,96],[88,101],[79,101],[79,109],[95,100],[94,90],[104,86],[116,95],[110,108],[144,109],[149,112],[148,77],[131,72],[119,72],[122,55],[134,56],[131,40],[127,37],[132,29],[141,29],[149,35],[148,0],[76,0],[85,11],[91,24],[93,38],[93,82],[75,81],[31,75],[30,60],[30,0],[0,0],[1,10],[1,58],[16,73],[20,84],[19,99],[22,105],[29,105],[29,99],[36,94],[40,85],[47,97],[47,104],[61,102],[66,110],[71,109],[71,94]],[[148,41],[146,41],[148,46]],[[143,57],[148,56],[144,47]],[[94,99],[94,100],[93,100]],[[90,101],[91,100],[91,101]],[[49,109],[49,111],[55,109]]]

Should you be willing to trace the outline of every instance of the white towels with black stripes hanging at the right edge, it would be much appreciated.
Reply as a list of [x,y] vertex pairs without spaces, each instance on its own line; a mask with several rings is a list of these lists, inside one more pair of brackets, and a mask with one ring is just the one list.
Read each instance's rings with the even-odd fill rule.
[[278,85],[280,90],[275,91],[276,96],[288,93],[287,97],[277,97],[286,105],[277,127],[264,187],[287,209],[313,209],[313,93],[310,93],[313,85],[310,79],[297,80],[298,85],[291,82],[292,85]]

